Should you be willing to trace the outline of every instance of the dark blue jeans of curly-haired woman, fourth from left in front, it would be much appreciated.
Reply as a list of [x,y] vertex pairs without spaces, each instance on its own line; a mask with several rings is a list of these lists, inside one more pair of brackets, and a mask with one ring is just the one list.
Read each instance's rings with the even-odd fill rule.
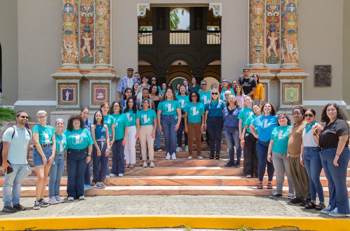
[[87,147],[67,149],[67,194],[68,197],[84,196],[84,172],[86,168]]

